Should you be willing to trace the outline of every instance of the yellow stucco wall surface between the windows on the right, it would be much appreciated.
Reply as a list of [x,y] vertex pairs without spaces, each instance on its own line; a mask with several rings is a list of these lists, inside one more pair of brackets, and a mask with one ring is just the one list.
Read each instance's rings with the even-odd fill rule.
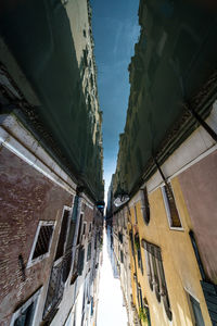
[[[149,195],[151,215],[148,226],[144,224],[141,214],[141,202],[138,201],[136,203],[140,240],[145,239],[146,241],[161,247],[162,250],[164,272],[167,283],[170,308],[173,312],[171,322],[169,322],[166,316],[163,302],[158,303],[155,292],[150,289],[146,277],[144,249],[142,247],[141,254],[144,273],[142,275],[140,268],[137,265],[138,281],[140,283],[142,288],[142,296],[143,298],[146,298],[149,303],[152,325],[194,325],[192,323],[192,314],[190,311],[191,308],[188,301],[188,294],[184,290],[187,289],[194,298],[200,301],[205,326],[212,326],[200,284],[200,269],[197,267],[197,262],[189,237],[191,221],[184,204],[178,178],[174,178],[171,180],[171,186],[182,224],[181,230],[174,230],[169,228],[161,188],[157,188],[155,191]],[[130,213],[131,221],[135,224],[133,206],[130,208]],[[131,266],[132,294],[133,301],[137,302],[136,286],[133,286],[135,271],[132,261]]]

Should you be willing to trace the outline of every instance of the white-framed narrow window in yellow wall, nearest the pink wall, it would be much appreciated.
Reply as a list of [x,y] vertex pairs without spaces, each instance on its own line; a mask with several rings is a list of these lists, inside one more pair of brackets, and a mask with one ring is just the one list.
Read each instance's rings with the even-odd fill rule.
[[179,213],[176,206],[171,185],[168,183],[167,185],[163,186],[162,191],[167,217],[169,221],[169,226],[175,228],[181,228],[181,221],[179,218]]

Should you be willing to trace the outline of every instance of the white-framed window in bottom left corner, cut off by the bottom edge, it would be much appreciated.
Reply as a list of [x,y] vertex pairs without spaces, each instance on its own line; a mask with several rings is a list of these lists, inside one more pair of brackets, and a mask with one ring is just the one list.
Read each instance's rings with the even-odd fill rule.
[[10,326],[28,326],[34,325],[34,317],[38,303],[38,297],[41,292],[40,288],[33,297],[30,297],[12,316]]

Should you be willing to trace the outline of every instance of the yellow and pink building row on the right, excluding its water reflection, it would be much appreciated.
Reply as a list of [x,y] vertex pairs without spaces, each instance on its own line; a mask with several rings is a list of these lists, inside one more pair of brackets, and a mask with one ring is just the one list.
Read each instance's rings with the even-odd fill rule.
[[[206,120],[214,130],[216,118],[215,102]],[[125,287],[129,266],[124,265],[123,215],[127,216],[127,278],[142,325],[216,323],[216,183],[209,175],[215,175],[215,166],[216,142],[199,127],[113,214],[114,251]]]

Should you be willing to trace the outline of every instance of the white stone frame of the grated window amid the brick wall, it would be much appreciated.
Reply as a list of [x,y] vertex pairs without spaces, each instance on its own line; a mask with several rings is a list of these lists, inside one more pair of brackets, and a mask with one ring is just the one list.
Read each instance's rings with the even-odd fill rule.
[[[56,225],[56,221],[39,221],[26,268],[31,267],[33,265],[37,264],[38,262],[42,261],[43,259],[46,259],[50,255],[50,250],[51,250],[51,244],[52,244],[53,235],[54,235],[54,230],[55,230],[55,225]],[[53,231],[52,231],[52,235],[51,235],[51,238],[49,241],[48,252],[37,256],[36,259],[33,259],[41,226],[53,226]]]

